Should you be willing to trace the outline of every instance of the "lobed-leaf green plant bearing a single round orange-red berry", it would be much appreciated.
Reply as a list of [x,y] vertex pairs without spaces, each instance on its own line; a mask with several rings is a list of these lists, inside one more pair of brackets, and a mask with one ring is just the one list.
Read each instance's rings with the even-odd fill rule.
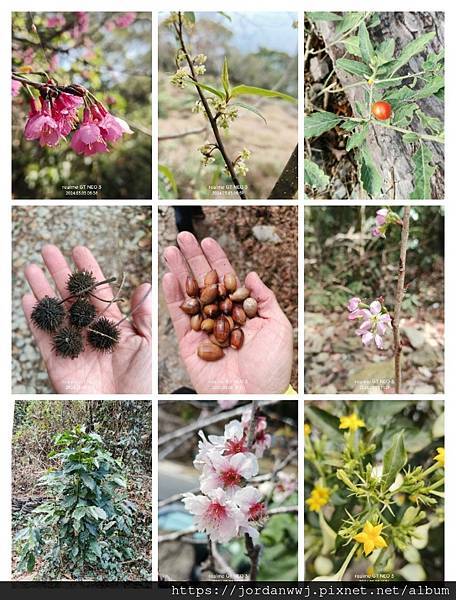
[[[429,50],[418,72],[409,69],[405,74],[400,73],[413,57],[429,47],[435,32],[417,37],[397,53],[393,38],[378,45],[372,42],[369,27],[378,23],[378,17],[373,13],[346,13],[343,17],[335,13],[307,13],[307,18],[312,24],[337,22],[337,37],[330,45],[345,47],[346,54],[351,57],[344,55],[337,59],[335,67],[355,78],[353,83],[337,88],[331,83],[319,90],[318,96],[355,87],[362,88],[364,95],[362,101],[356,102],[354,116],[312,108],[304,120],[305,137],[316,138],[336,127],[344,130],[347,134],[345,147],[354,152],[362,187],[374,198],[381,195],[384,181],[370,153],[368,136],[378,127],[396,131],[405,143],[414,147],[411,198],[430,198],[435,165],[429,144],[444,143],[444,125],[440,119],[426,114],[419,101],[432,96],[443,102],[443,50],[438,53]],[[318,165],[307,159],[305,168],[308,189],[312,193],[315,189],[323,191],[328,181]]]

